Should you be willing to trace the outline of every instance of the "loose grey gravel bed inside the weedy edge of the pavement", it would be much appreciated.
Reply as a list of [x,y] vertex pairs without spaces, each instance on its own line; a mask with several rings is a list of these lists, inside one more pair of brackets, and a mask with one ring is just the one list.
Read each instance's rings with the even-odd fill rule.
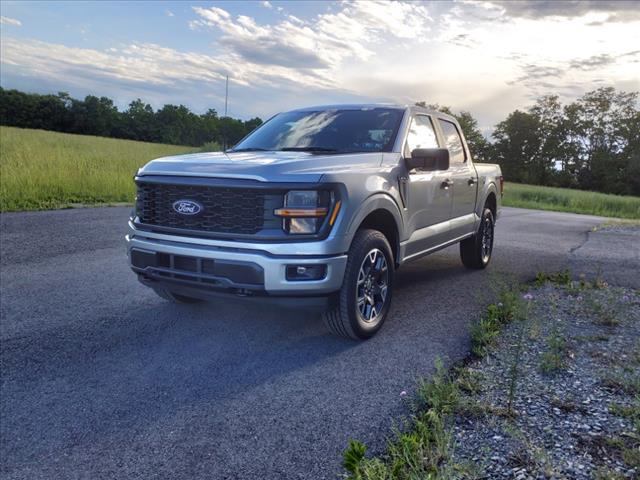
[[[492,479],[638,478],[638,420],[610,408],[640,408],[640,292],[575,282],[531,294],[527,319],[506,326],[493,353],[469,366],[483,390],[468,398],[476,408],[456,417],[456,460]],[[558,368],[545,373],[551,344]],[[624,448],[635,449],[631,465]]]

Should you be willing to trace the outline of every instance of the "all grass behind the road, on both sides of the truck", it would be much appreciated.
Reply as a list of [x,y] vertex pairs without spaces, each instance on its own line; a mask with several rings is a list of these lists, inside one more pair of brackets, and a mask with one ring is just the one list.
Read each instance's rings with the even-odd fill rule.
[[[198,149],[0,127],[2,211],[131,203],[147,161]],[[504,205],[640,219],[640,197],[506,183]]]

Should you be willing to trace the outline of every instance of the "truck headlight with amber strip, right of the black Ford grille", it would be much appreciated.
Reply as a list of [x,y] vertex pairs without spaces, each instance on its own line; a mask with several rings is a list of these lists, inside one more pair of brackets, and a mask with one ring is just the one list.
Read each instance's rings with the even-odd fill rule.
[[282,217],[282,228],[293,235],[318,233],[329,213],[331,192],[291,190],[284,196],[284,206],[274,214]]

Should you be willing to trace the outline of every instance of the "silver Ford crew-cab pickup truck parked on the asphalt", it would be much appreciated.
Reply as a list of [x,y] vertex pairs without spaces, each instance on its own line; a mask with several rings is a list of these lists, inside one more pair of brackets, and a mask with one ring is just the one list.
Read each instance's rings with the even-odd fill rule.
[[455,118],[395,105],[280,113],[226,152],[153,160],[135,183],[126,241],[144,285],[178,303],[319,308],[353,339],[381,328],[405,262],[460,243],[464,266],[487,266],[503,188]]

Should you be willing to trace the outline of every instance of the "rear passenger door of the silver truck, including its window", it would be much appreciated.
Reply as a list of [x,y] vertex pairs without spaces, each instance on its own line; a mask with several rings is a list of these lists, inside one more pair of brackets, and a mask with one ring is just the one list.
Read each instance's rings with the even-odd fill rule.
[[451,212],[452,234],[464,235],[472,232],[475,225],[476,194],[478,178],[476,170],[464,148],[458,126],[439,118],[438,123],[449,149],[449,178],[453,182],[453,209]]

